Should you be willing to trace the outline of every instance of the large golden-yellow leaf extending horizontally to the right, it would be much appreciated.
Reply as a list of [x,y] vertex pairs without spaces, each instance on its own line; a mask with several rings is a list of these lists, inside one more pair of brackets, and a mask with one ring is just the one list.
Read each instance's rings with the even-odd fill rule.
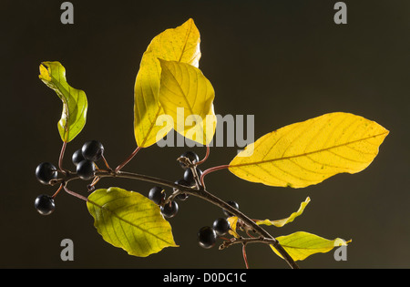
[[242,150],[233,174],[270,186],[304,188],[374,160],[389,131],[349,113],[330,113],[273,131]]

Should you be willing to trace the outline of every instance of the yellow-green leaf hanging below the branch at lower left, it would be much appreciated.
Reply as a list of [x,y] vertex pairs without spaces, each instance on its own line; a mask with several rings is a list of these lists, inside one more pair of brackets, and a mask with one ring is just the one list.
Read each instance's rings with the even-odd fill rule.
[[177,246],[159,206],[138,192],[95,190],[88,196],[87,209],[103,239],[129,255],[146,257]]

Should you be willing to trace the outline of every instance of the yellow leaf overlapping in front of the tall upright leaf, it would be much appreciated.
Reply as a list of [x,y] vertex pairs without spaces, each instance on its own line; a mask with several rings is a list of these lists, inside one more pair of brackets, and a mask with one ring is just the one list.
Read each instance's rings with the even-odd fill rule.
[[189,64],[164,60],[160,64],[159,102],[173,118],[174,129],[186,138],[209,144],[216,127],[216,117],[212,118],[215,92],[210,81]]

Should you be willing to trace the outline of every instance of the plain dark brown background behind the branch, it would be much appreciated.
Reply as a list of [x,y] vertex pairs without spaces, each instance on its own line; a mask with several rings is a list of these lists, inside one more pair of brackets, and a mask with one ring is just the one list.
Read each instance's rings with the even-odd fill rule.
[[[61,102],[38,79],[41,61],[60,61],[71,86],[87,93],[83,132],[69,156],[90,138],[101,140],[111,165],[136,148],[133,87],[152,37],[192,17],[200,29],[200,68],[216,90],[220,115],[255,115],[255,138],[293,122],[333,111],[373,119],[390,130],[373,164],[302,190],[243,181],[223,170],[207,187],[237,200],[257,219],[281,219],[311,197],[302,217],[275,229],[279,236],[309,231],[352,239],[347,261],[333,252],[300,262],[302,268],[407,268],[409,240],[409,29],[408,1],[345,1],[348,24],[333,23],[336,1],[72,1],[75,24],[60,23],[63,1],[2,1],[2,268],[243,268],[241,247],[201,249],[196,233],[221,215],[195,198],[169,220],[179,248],[136,258],[103,241],[83,201],[61,193],[56,211],[36,213],[34,199],[54,188],[36,181],[41,161],[56,164]],[[212,148],[204,168],[227,164],[235,148]],[[184,148],[153,146],[128,166],[175,180]],[[200,156],[204,149],[195,149]],[[101,180],[147,195],[149,184]],[[87,195],[86,184],[72,190]],[[60,241],[74,241],[74,261],[60,260]],[[267,246],[248,247],[252,268],[287,268]]]

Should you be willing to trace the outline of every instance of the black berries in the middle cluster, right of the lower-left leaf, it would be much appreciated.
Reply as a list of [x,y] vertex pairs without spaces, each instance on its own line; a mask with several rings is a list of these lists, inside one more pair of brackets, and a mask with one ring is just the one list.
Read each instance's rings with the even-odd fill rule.
[[[190,159],[190,163],[195,164],[200,161],[200,158],[198,155],[193,152],[193,151],[187,151],[183,153],[180,158],[187,158]],[[195,186],[196,181],[195,177],[192,173],[192,170],[183,162],[179,161],[180,166],[182,169],[185,169],[184,176],[182,179],[178,179],[175,181],[176,184],[183,185],[186,187],[191,187]],[[198,177],[201,176],[202,170],[196,168]],[[178,192],[179,190],[173,189],[173,192]],[[156,204],[160,206],[161,213],[164,217],[167,218],[172,218],[175,215],[177,215],[178,210],[179,210],[179,205],[178,202],[175,200],[169,200],[169,202],[165,203],[165,199],[167,198],[167,194],[165,190],[159,186],[153,187],[151,190],[149,190],[149,200],[154,201]],[[179,193],[175,199],[177,200],[187,200],[188,199],[188,194],[186,193]]]

